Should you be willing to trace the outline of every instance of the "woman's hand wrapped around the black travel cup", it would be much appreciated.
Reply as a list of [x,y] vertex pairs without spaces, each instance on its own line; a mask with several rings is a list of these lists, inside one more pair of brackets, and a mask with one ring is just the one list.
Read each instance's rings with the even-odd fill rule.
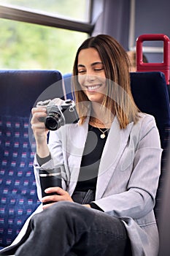
[[[48,203],[48,202],[59,202],[59,201],[69,201],[74,202],[72,200],[72,197],[69,195],[68,192],[61,189],[61,187],[49,187],[45,189],[45,193],[56,193],[58,195],[47,195],[46,197],[42,198],[42,203]],[[43,209],[52,206],[54,203],[48,203],[46,205],[43,205]]]

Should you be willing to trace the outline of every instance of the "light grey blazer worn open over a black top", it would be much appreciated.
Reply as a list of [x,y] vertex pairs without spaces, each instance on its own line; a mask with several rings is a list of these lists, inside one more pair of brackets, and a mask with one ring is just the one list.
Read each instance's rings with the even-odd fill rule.
[[[155,119],[140,113],[134,125],[120,129],[117,118],[109,131],[101,156],[96,185],[95,203],[107,214],[119,217],[131,240],[133,255],[158,255],[158,229],[153,207],[161,172],[161,144]],[[63,189],[74,192],[80,170],[82,153],[88,134],[85,124],[65,125],[50,132],[49,148],[52,159],[42,169],[64,165]],[[37,191],[39,165],[34,161]]]

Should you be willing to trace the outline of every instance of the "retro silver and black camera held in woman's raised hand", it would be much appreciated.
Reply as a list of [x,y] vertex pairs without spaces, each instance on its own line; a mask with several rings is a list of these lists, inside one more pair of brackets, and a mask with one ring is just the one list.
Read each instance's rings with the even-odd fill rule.
[[66,99],[61,105],[57,105],[55,99],[49,99],[45,102],[38,102],[37,106],[45,106],[47,108],[45,126],[52,131],[65,124],[76,124],[79,121],[75,103],[72,99]]

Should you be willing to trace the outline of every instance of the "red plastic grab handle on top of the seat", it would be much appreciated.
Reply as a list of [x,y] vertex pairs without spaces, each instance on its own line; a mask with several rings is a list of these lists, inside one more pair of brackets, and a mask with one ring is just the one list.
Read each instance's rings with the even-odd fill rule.
[[[163,41],[163,62],[144,63],[142,59],[142,43],[144,41]],[[137,72],[161,71],[169,84],[170,39],[165,34],[142,34],[136,39],[136,70]]]

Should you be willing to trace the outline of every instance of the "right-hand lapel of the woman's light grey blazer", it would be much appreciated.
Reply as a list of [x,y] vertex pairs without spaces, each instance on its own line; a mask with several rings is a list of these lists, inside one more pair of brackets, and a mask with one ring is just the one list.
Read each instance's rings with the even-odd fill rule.
[[117,117],[115,117],[101,156],[98,170],[98,181],[96,187],[96,200],[101,198],[115,171],[117,162],[123,154],[123,150],[128,142],[128,137],[133,127],[133,122],[125,129],[120,129]]

